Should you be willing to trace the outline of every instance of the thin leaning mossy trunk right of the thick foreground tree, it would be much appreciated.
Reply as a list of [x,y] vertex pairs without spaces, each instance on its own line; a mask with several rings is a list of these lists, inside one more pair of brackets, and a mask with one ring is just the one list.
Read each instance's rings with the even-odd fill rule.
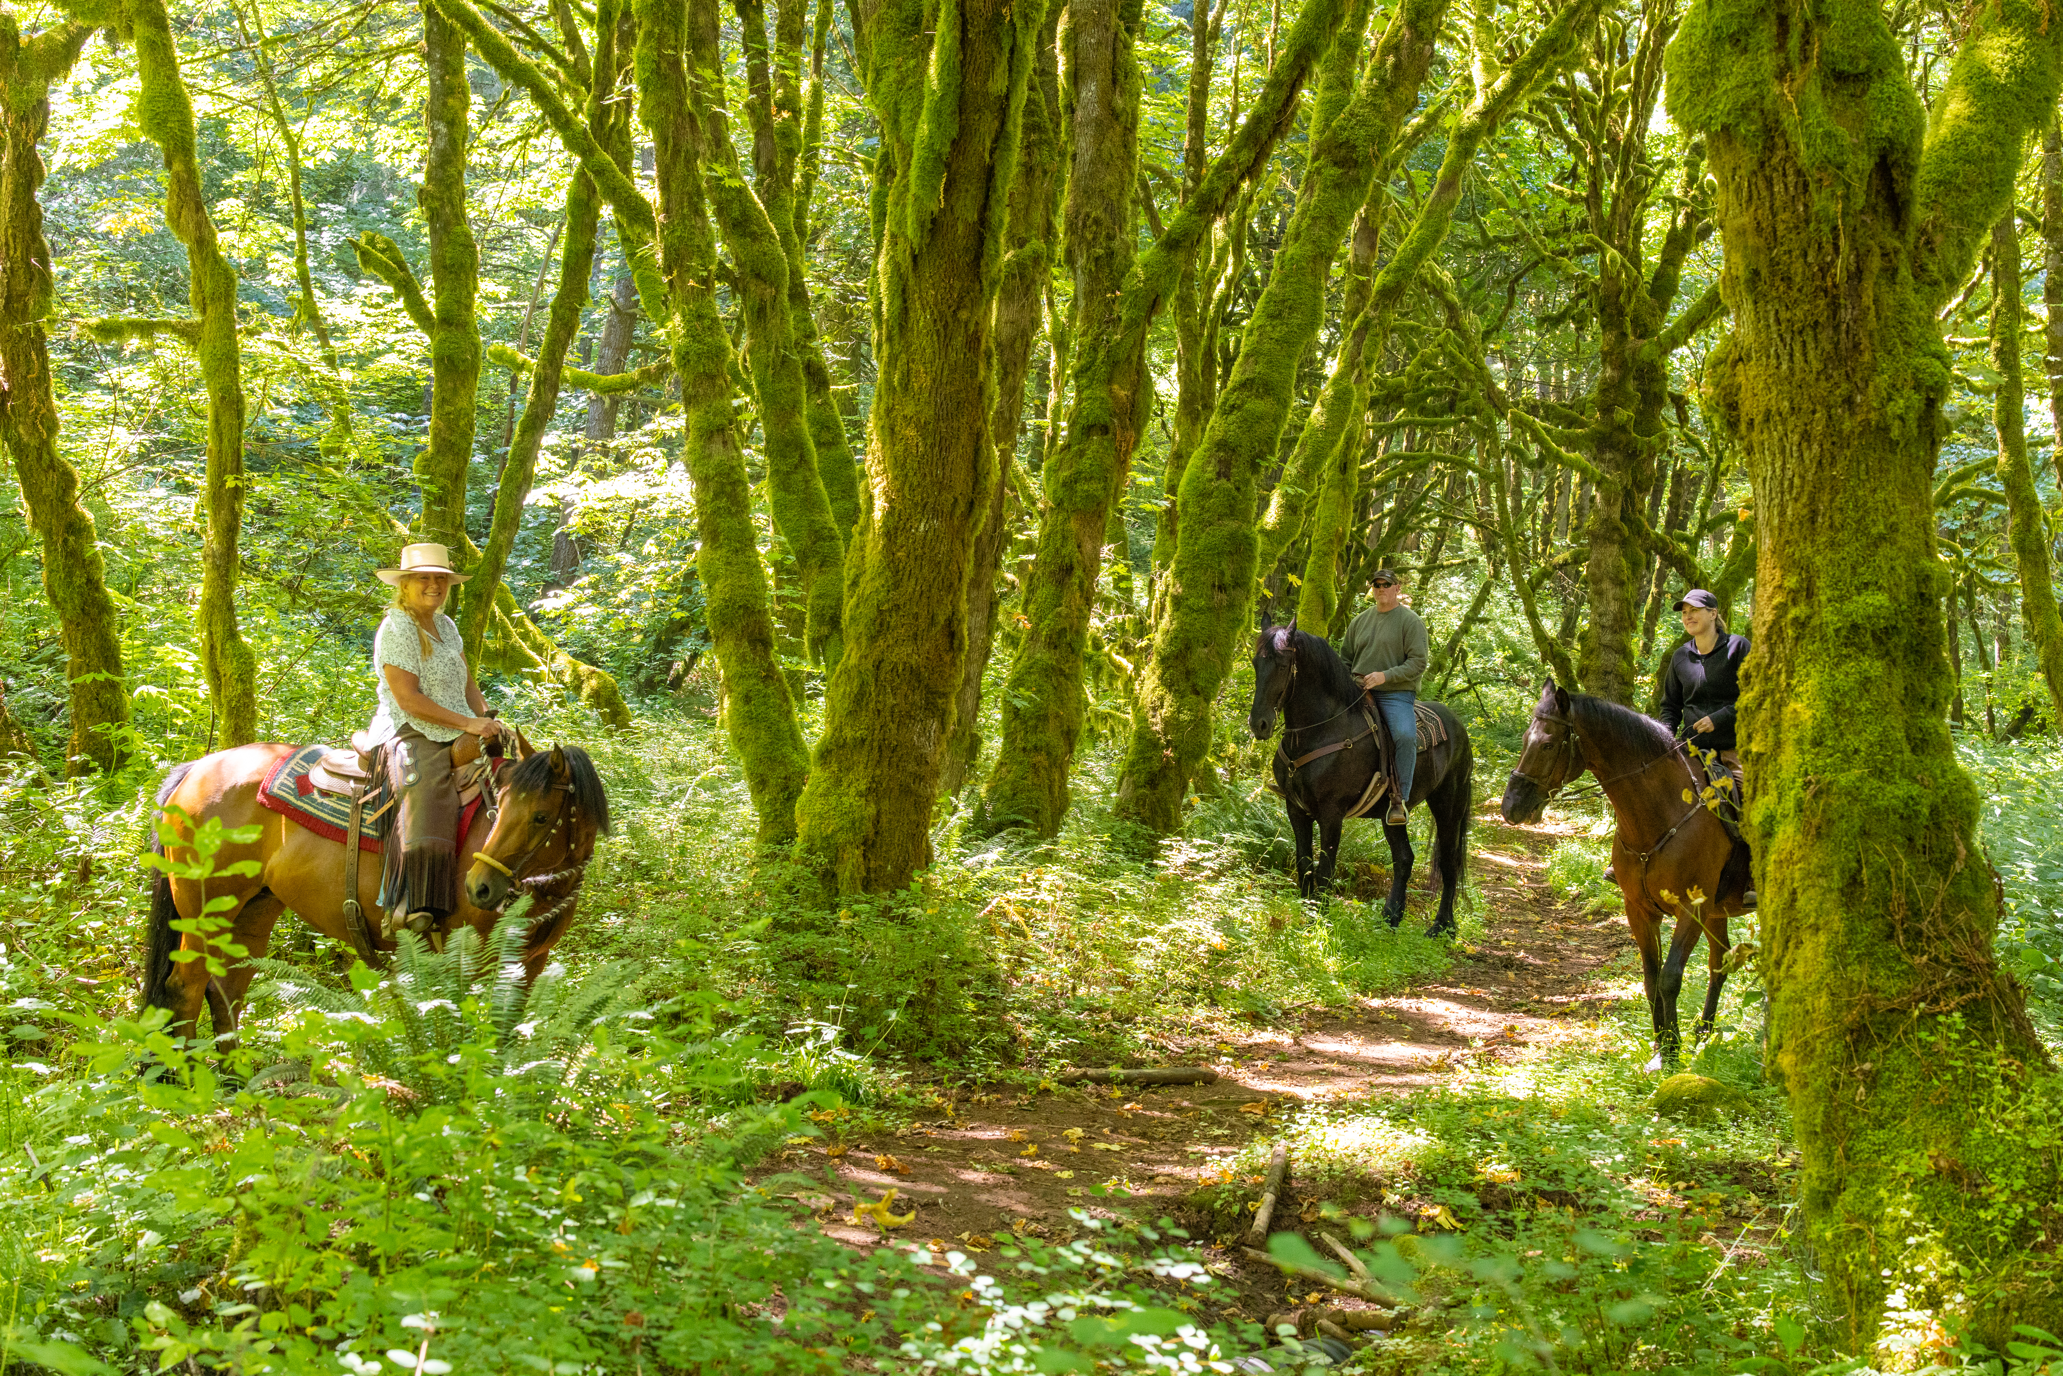
[[1991,229],[1991,367],[1999,390],[1991,421],[1999,433],[1999,487],[2005,489],[2007,536],[2020,569],[2020,611],[2049,685],[2049,720],[2063,726],[2063,615],[2057,613],[2049,565],[2049,518],[2034,491],[2028,462],[2028,390],[2020,367],[2020,210],[2007,206]]

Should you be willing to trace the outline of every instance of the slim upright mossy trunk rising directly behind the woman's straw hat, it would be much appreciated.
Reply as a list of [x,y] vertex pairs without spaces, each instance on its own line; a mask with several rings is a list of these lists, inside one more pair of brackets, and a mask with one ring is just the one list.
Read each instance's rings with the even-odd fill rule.
[[417,206],[429,227],[429,283],[435,295],[429,330],[429,435],[415,456],[423,489],[425,540],[466,547],[466,474],[481,394],[481,252],[466,219],[466,140],[472,128],[472,85],[466,80],[466,35],[423,4],[423,186]]

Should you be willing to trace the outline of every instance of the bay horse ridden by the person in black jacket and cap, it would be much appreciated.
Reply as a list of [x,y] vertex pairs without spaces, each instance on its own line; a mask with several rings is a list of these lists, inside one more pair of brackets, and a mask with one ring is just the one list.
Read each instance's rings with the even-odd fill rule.
[[[1547,679],[1527,724],[1518,767],[1504,788],[1506,821],[1539,821],[1547,798],[1591,772],[1617,831],[1611,862],[1626,922],[1640,947],[1640,984],[1655,1021],[1655,1058],[1648,1071],[1675,1069],[1681,1052],[1677,996],[1683,965],[1706,939],[1704,1013],[1692,1040],[1704,1040],[1718,1017],[1718,990],[1727,982],[1727,918],[1747,912],[1751,877],[1747,846],[1704,805],[1704,765],[1669,730],[1632,708],[1603,697],[1570,693]],[[1669,955],[1661,953],[1661,926],[1675,918]]]

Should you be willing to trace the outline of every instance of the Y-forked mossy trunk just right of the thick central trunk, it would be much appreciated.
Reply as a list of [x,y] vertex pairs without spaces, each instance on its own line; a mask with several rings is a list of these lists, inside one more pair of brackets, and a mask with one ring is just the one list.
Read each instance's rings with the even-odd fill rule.
[[[1357,14],[1360,23],[1341,25],[1341,8]],[[1345,6],[1304,8],[1283,35],[1277,66],[1246,111],[1240,134],[1137,264],[1139,68],[1124,12],[1118,4],[1069,12],[1065,89],[1073,95],[1075,134],[1062,243],[1075,276],[1069,324],[1073,400],[1067,435],[1042,483],[1038,555],[1023,594],[1029,625],[1011,660],[1001,714],[1003,749],[982,792],[982,825],[988,831],[1025,825],[1052,836],[1067,815],[1067,782],[1087,708],[1083,668],[1110,510],[1124,491],[1151,402],[1145,378],[1151,322],[1174,295],[1182,266],[1203,245],[1211,223],[1267,161],[1275,134],[1296,107],[1304,72],[1327,52],[1327,43],[1335,47],[1333,66],[1345,64],[1343,87],[1351,89],[1368,4],[1351,0]]]

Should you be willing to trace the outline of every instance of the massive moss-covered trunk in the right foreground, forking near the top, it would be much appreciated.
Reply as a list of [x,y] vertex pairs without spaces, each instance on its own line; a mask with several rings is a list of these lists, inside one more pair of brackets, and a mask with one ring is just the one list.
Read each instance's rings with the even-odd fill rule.
[[[2057,97],[2040,0],[1972,10],[1933,120],[1873,2],[1698,0],[1669,109],[1708,136],[1760,524],[1741,697],[1770,1060],[1846,1351],[2063,1326],[2059,1085],[1993,959],[1997,877],[1943,714],[1937,312]],[[2040,1141],[2042,1147],[2032,1147]]]

